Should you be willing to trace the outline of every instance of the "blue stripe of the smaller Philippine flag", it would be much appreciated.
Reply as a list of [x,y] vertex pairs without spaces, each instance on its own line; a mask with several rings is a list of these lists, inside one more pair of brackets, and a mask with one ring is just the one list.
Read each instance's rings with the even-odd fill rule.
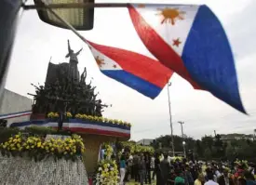
[[[101,73],[114,78],[116,81],[137,90],[141,94],[155,99],[157,95],[161,92],[161,88],[147,82],[140,77],[133,75],[132,73],[125,72],[123,70],[101,70]],[[150,73],[150,72],[148,72]]]

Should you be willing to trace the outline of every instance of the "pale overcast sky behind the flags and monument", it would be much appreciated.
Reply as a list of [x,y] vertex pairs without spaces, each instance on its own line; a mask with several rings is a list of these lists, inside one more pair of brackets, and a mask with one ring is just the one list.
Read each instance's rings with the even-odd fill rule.
[[[123,0],[112,2],[123,3]],[[150,2],[154,1],[147,1]],[[161,3],[204,3],[215,12],[233,47],[241,97],[250,114],[247,116],[237,112],[208,92],[194,90],[180,76],[174,74],[170,86],[174,134],[181,135],[178,121],[185,122],[184,133],[195,139],[206,134],[212,135],[214,130],[217,133],[253,133],[256,128],[256,1],[169,0]],[[152,57],[136,34],[126,8],[96,9],[94,29],[81,33],[95,43],[118,46]],[[25,96],[28,92],[34,93],[30,83],[45,82],[50,57],[54,63],[68,61],[64,58],[67,54],[67,39],[70,39],[75,51],[84,48],[78,57],[80,72],[87,67],[88,81],[93,77],[93,85],[100,91],[102,101],[113,104],[112,108],[105,110],[103,116],[130,122],[131,139],[154,139],[170,134],[167,88],[152,100],[103,75],[88,46],[74,33],[42,22],[34,10],[23,12],[20,17],[7,76],[7,89]]]

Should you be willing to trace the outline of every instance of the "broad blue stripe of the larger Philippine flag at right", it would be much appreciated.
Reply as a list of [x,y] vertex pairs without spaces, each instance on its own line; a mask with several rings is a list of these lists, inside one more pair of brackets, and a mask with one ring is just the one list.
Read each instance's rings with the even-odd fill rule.
[[221,22],[207,6],[198,9],[183,48],[182,59],[199,86],[236,110],[245,112],[231,46]]

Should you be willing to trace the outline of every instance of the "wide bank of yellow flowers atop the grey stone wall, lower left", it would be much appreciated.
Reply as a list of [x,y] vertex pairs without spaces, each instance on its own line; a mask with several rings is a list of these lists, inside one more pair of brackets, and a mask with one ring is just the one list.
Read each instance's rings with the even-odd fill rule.
[[46,155],[54,155],[59,158],[75,159],[75,156],[85,152],[83,139],[78,135],[73,135],[66,139],[48,139],[44,140],[39,137],[24,138],[21,134],[15,135],[0,144],[0,150],[3,155],[15,156],[17,153],[27,152],[34,160],[43,159]]

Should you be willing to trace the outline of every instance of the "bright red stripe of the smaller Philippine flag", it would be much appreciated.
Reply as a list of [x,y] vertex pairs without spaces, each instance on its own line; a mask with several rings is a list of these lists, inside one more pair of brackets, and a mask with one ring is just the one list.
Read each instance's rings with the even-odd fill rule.
[[163,88],[173,73],[155,59],[150,59],[146,56],[125,49],[112,46],[102,46],[88,40],[87,42],[103,55],[115,60],[115,62],[118,63],[124,71],[132,73],[155,86]]

